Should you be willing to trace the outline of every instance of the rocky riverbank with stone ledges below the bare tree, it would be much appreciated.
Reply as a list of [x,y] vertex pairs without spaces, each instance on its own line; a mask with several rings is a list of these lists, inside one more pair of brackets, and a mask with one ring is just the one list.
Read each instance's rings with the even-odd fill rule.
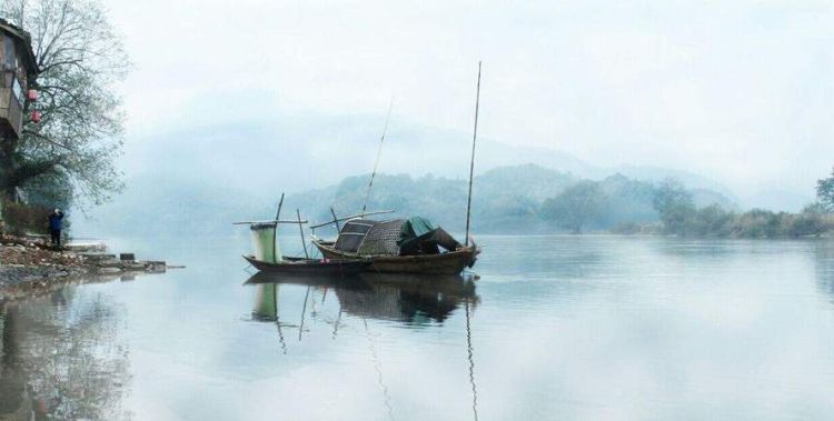
[[56,249],[39,237],[0,235],[0,300],[167,269],[165,261],[136,260],[130,253],[117,258],[103,243]]

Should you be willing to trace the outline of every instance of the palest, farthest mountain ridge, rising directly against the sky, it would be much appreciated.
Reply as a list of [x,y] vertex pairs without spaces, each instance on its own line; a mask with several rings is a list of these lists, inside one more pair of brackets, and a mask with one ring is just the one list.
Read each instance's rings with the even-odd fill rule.
[[[345,174],[369,172],[380,126],[371,116],[276,118],[146,134],[128,140],[123,167],[128,176],[137,178],[152,162],[153,173],[175,180],[197,176],[268,198],[278,190],[300,192],[337,184]],[[391,122],[379,172],[465,179],[469,172],[470,136]],[[593,180],[614,173],[653,182],[674,178],[688,188],[713,190],[735,200],[721,183],[685,171],[646,166],[604,168],[556,149],[514,146],[512,140],[478,142],[476,174],[525,163]]]

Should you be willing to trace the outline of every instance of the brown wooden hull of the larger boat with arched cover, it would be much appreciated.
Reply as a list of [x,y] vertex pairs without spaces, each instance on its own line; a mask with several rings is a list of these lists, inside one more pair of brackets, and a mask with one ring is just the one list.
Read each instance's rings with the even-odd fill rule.
[[331,244],[326,242],[314,241],[312,243],[316,244],[316,248],[327,259],[369,259],[370,264],[365,270],[381,273],[459,274],[464,271],[464,268],[475,261],[475,258],[480,252],[480,249],[473,245],[441,254],[363,257],[336,250]]

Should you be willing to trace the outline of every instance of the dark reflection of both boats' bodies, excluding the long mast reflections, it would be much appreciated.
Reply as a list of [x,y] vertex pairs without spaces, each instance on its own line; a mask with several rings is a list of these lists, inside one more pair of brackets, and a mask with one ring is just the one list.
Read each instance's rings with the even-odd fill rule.
[[[475,283],[461,275],[363,273],[359,277],[286,277],[259,272],[246,281],[257,288],[252,318],[279,321],[281,284],[306,285],[304,309],[311,292],[328,291],[338,300],[340,312],[405,323],[443,322],[463,304],[477,305]],[[302,319],[304,321],[304,319]]]

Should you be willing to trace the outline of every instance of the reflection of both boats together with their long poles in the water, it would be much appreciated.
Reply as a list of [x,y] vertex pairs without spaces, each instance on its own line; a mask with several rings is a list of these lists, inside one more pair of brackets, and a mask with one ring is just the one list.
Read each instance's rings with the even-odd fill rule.
[[[470,279],[459,275],[407,275],[407,274],[383,274],[370,273],[358,278],[325,278],[325,277],[286,277],[260,272],[247,280],[246,284],[254,285],[256,293],[256,310],[252,312],[255,320],[270,321],[278,324],[279,340],[284,353],[287,353],[286,343],[281,335],[280,305],[278,302],[278,289],[281,285],[306,287],[304,302],[301,303],[300,323],[298,325],[298,339],[307,317],[308,302],[315,303],[315,293],[321,293],[321,303],[328,292],[336,295],[338,301],[338,313],[332,321],[330,340],[336,340],[339,328],[345,324],[342,313],[361,319],[365,337],[368,342],[369,357],[376,371],[377,383],[381,390],[384,405],[388,418],[394,420],[393,399],[385,383],[379,352],[375,344],[375,337],[368,324],[368,320],[384,320],[403,323],[405,325],[426,325],[431,323],[444,323],[459,307],[464,307],[466,322],[466,350],[468,382],[471,388],[471,411],[477,421],[477,388],[475,383],[475,349],[471,344],[470,310],[479,303],[475,293],[475,283]],[[312,299],[311,299],[312,298]],[[300,297],[299,297],[300,299]],[[266,300],[266,301],[265,301]],[[271,300],[271,301],[270,301]],[[312,320],[321,320],[320,313],[311,312]],[[349,321],[348,321],[349,324]],[[308,328],[308,330],[311,328]]]

